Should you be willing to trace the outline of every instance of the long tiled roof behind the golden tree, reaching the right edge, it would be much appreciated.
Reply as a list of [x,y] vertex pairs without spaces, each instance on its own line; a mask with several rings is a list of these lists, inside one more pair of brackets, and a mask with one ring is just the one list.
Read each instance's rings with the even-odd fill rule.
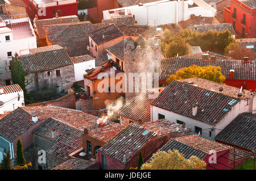
[[[172,57],[165,58],[161,61],[162,73],[160,80],[167,79],[170,74],[175,74],[177,70],[182,68],[198,65],[198,66],[220,66],[221,73],[229,78],[230,70],[234,70],[234,78],[240,80],[256,80],[256,61],[243,62],[243,60],[216,60],[204,61],[199,58]],[[230,78],[229,78],[230,79]]]

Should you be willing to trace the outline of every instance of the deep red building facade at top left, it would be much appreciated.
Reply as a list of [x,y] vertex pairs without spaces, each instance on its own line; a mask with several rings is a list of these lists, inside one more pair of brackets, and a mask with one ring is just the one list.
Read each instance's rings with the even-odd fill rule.
[[38,19],[55,18],[59,16],[78,15],[77,0],[54,1],[49,0],[43,3],[42,0],[21,0],[26,6],[26,11],[31,19],[38,16]]

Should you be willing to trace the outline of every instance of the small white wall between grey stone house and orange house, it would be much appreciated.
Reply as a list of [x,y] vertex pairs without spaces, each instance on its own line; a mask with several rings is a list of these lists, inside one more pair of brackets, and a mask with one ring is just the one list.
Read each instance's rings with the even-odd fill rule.
[[81,62],[79,64],[74,64],[75,71],[75,81],[81,81],[84,79],[85,70],[95,68],[95,60]]

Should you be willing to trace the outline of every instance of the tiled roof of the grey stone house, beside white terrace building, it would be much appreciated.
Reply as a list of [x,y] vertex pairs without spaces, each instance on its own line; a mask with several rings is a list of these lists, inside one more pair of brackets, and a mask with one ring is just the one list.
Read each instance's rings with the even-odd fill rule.
[[[53,49],[57,48],[52,50],[51,47]],[[73,64],[64,48],[59,49],[58,45],[52,45],[51,47],[38,48],[39,50],[33,49],[38,53],[20,56],[17,61],[27,73],[56,69]]]

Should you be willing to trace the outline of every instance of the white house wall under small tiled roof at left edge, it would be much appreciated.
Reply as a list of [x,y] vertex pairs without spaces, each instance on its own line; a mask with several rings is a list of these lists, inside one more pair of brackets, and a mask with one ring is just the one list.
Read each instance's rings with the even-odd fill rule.
[[0,95],[0,100],[5,103],[3,104],[3,111],[14,111],[16,108],[22,107],[22,103],[24,103],[24,94],[23,91],[2,94]]

